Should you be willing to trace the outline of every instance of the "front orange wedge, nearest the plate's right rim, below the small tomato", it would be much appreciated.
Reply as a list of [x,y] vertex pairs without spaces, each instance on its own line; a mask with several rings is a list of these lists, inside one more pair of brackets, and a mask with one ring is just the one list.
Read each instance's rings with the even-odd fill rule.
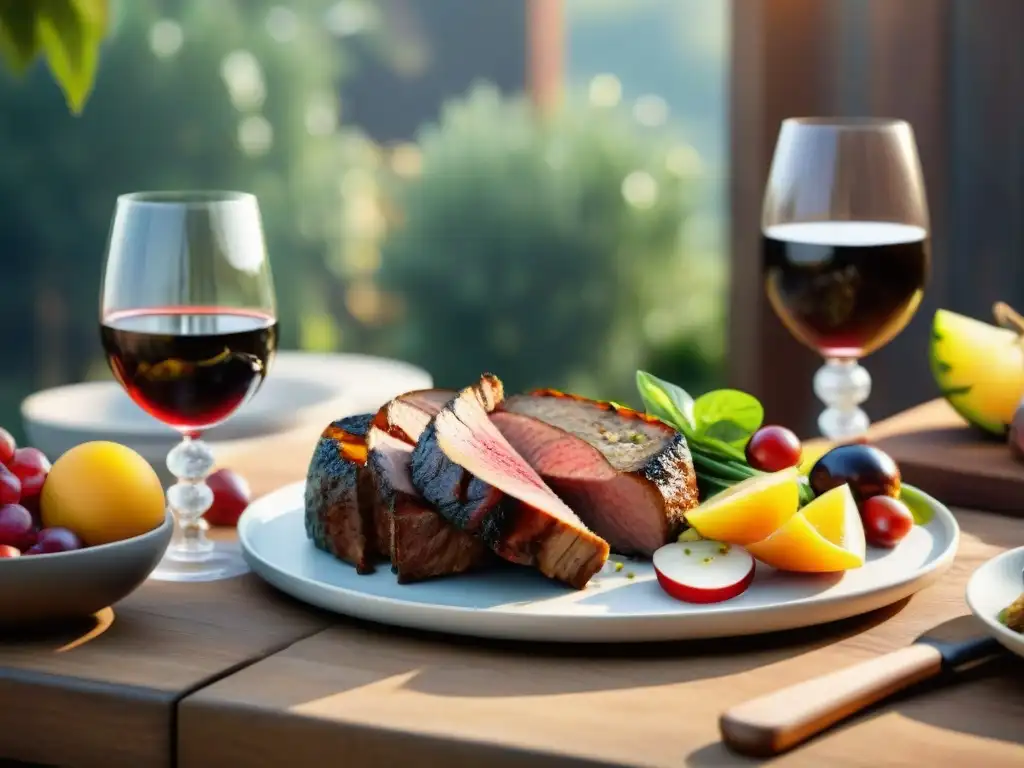
[[766,565],[802,573],[831,573],[864,564],[864,527],[849,485],[822,494],[763,542],[746,551]]

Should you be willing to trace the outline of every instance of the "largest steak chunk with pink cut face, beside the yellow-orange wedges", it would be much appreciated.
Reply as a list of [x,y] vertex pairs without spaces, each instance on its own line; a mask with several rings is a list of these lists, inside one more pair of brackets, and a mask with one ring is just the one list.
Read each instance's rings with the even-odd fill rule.
[[615,552],[650,556],[697,505],[686,439],[637,411],[540,390],[509,397],[492,419]]

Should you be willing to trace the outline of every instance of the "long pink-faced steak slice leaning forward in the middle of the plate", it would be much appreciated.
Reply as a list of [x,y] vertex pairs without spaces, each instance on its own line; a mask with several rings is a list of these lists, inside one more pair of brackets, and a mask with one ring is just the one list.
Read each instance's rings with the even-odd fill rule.
[[501,381],[484,376],[446,404],[416,444],[413,483],[445,518],[501,557],[582,589],[607,559],[608,544],[492,423],[488,414],[503,397]]

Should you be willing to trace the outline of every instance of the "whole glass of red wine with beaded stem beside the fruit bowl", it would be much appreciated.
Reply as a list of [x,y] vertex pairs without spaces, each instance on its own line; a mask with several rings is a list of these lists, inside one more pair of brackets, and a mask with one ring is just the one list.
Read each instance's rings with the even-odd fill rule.
[[232,191],[118,198],[103,270],[100,336],[115,378],[181,434],[167,457],[175,537],[152,578],[200,582],[247,568],[206,535],[214,465],[203,433],[259,389],[278,322],[259,205]]

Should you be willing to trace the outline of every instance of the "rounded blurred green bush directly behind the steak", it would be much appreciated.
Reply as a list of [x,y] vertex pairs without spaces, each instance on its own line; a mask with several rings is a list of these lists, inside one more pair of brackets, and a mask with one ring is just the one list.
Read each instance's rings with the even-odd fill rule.
[[685,146],[615,109],[568,100],[539,117],[483,85],[419,144],[380,275],[403,308],[397,354],[442,385],[492,371],[513,390],[625,401],[638,367],[716,378],[721,275],[680,248],[696,183],[674,162]]

